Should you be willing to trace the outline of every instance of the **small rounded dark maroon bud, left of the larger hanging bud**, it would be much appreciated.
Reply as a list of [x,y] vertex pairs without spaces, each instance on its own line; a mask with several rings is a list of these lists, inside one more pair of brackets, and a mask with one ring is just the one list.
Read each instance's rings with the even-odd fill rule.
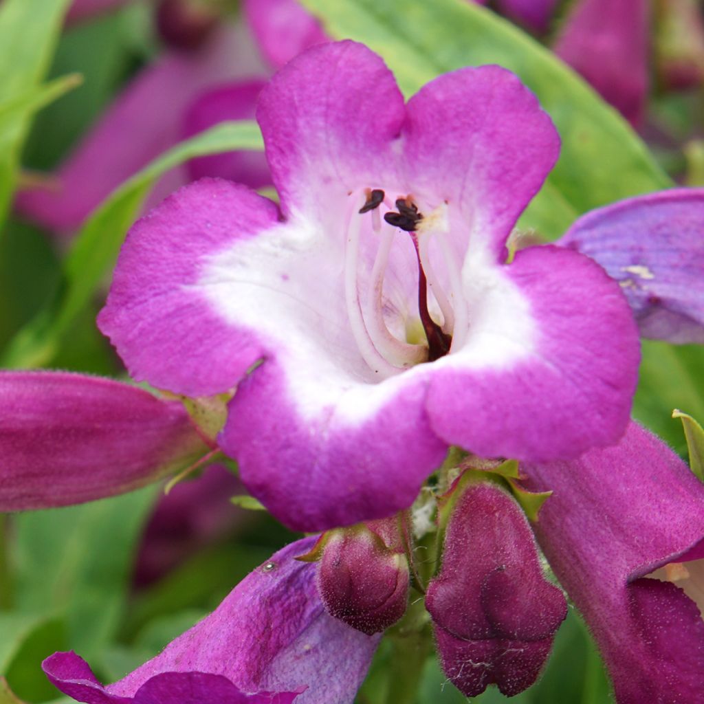
[[318,591],[328,612],[367,635],[406,612],[410,580],[406,518],[338,528],[322,536]]

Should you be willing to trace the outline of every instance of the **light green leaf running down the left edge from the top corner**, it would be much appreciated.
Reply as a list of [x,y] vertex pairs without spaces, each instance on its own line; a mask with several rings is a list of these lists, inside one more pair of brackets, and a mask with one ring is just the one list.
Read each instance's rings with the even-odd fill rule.
[[[0,106],[21,103],[42,82],[70,0],[4,0],[0,5]],[[15,189],[20,150],[32,116],[27,106],[0,119],[0,224]]]

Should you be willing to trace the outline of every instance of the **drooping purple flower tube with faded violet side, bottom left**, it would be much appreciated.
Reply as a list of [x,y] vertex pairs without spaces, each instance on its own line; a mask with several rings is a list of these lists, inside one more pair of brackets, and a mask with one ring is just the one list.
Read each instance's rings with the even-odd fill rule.
[[[159,675],[170,674],[164,681],[176,686],[193,678],[192,673],[207,684],[203,696],[225,688],[225,679],[243,692],[295,693],[307,688],[296,704],[351,704],[379,639],[327,615],[315,586],[315,566],[295,559],[314,541],[297,541],[273,555],[210,616],[115,684],[101,686],[74,653],[53,655],[44,669],[71,696],[74,680],[84,679],[80,686],[84,696],[92,697],[84,699],[89,704],[146,704],[139,698],[142,690],[155,687]],[[220,704],[215,695],[201,701]]]

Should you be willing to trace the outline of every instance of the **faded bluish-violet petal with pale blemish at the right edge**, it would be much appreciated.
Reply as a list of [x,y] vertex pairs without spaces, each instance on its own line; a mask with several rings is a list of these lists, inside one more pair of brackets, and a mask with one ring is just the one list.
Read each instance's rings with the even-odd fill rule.
[[704,343],[704,189],[638,196],[579,218],[559,244],[619,282],[643,337]]

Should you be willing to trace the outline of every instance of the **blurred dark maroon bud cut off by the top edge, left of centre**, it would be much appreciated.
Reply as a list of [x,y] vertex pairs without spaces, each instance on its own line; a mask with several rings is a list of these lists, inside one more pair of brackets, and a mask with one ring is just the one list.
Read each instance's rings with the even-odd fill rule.
[[222,3],[215,0],[161,0],[156,29],[174,49],[198,49],[218,25]]

